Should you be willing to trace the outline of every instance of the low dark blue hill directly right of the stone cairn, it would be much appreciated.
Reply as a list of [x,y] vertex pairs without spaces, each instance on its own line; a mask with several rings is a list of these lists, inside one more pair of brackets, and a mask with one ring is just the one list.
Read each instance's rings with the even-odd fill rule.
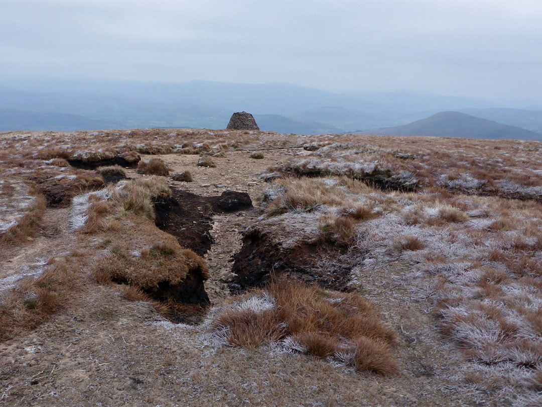
[[254,115],[262,131],[293,133],[301,135],[342,133],[343,130],[318,122],[301,119],[289,119],[280,115]]

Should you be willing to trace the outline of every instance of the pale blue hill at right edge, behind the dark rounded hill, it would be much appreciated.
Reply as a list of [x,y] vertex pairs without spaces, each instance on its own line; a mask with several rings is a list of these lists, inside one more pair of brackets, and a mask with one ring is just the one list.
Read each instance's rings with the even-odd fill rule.
[[542,109],[460,109],[462,113],[542,133]]

